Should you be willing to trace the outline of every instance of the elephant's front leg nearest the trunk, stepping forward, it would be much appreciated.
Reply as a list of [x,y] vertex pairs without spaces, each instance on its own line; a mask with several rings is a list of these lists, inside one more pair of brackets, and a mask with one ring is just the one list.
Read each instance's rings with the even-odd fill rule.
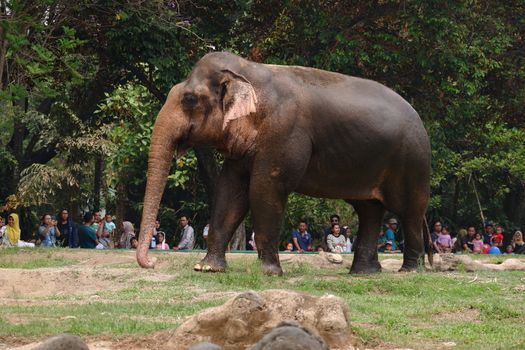
[[211,209],[208,253],[195,270],[225,270],[228,243],[248,212],[248,183],[249,174],[242,163],[224,162]]

